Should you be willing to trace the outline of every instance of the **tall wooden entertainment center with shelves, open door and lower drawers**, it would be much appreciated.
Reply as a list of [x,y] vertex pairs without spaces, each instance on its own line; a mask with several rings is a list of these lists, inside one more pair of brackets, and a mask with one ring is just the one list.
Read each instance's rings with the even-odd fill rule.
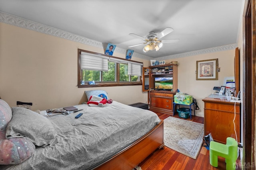
[[[150,110],[174,115],[173,96],[178,90],[178,64],[164,64],[143,67],[142,91],[148,92]],[[161,90],[155,87],[155,78],[172,78],[172,90]],[[161,88],[161,87],[160,87]]]

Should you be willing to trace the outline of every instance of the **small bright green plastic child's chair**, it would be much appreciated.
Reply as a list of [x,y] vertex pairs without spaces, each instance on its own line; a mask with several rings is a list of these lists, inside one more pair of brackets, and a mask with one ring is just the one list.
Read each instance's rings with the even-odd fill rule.
[[221,156],[225,158],[226,170],[235,170],[237,152],[238,152],[238,143],[232,137],[227,138],[226,145],[211,141],[210,142],[210,164],[214,167],[218,167],[218,156]]

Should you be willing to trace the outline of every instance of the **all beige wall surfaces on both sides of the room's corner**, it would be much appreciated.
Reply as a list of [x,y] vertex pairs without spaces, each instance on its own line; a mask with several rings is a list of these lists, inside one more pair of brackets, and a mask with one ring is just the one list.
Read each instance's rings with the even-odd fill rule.
[[[103,53],[102,48],[69,41],[0,23],[0,96],[8,104],[32,102],[32,110],[71,106],[84,102],[85,90],[103,89],[109,98],[124,104],[147,101],[142,86],[77,88],[77,49]],[[114,53],[125,58],[125,54]],[[218,80],[196,80],[196,61],[218,58]],[[150,61],[133,57],[148,66]],[[204,116],[202,99],[221,86],[225,76],[234,76],[234,50],[166,60],[178,61],[178,88],[198,99]]]

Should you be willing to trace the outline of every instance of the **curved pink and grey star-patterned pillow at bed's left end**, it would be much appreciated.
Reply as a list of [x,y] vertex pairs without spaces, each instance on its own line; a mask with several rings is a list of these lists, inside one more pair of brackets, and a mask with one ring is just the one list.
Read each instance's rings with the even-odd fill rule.
[[28,139],[6,139],[6,127],[12,119],[10,106],[0,99],[0,165],[20,164],[34,154],[35,145]]

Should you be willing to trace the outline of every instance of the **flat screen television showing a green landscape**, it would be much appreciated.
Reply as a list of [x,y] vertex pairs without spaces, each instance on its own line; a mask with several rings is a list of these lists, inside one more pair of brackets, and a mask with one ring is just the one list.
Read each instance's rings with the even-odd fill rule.
[[172,77],[155,77],[156,90],[172,90]]

